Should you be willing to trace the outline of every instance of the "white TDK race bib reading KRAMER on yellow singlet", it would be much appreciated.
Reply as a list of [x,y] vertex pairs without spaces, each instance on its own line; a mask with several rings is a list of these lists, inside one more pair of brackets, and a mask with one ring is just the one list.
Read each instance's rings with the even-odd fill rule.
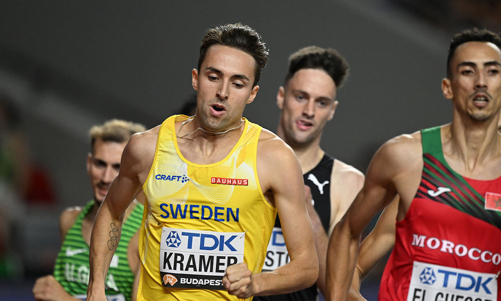
[[227,266],[243,262],[245,232],[162,228],[160,277],[163,286],[224,289]]

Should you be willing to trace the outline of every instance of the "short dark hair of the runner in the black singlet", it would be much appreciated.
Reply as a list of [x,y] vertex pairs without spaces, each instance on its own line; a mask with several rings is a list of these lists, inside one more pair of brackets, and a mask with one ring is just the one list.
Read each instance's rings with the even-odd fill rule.
[[285,77],[285,84],[301,69],[324,70],[340,87],[348,75],[348,63],[332,48],[308,46],[301,48],[289,57],[289,70]]

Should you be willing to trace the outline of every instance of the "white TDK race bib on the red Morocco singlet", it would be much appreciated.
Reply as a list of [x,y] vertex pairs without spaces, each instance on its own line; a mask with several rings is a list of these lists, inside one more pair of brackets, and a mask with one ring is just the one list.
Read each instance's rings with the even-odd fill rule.
[[407,301],[494,301],[495,274],[414,261]]

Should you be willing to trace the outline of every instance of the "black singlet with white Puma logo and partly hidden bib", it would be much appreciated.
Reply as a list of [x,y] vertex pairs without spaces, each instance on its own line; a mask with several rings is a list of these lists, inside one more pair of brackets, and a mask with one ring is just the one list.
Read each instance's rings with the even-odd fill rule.
[[[315,208],[315,211],[317,211],[326,233],[329,233],[329,225],[331,222],[331,174],[333,165],[334,158],[324,154],[324,157],[322,157],[319,164],[317,164],[317,166],[315,166],[315,168],[311,171],[303,175],[305,184],[310,187],[312,192],[313,207]],[[287,251],[287,247],[285,245],[284,234],[282,233],[282,227],[280,225],[280,218],[277,216],[272,237],[268,243],[263,270],[274,270],[289,261],[289,252]],[[317,285],[313,284],[310,287],[291,293],[256,296],[254,299],[263,301],[315,301],[317,299],[317,295]]]

